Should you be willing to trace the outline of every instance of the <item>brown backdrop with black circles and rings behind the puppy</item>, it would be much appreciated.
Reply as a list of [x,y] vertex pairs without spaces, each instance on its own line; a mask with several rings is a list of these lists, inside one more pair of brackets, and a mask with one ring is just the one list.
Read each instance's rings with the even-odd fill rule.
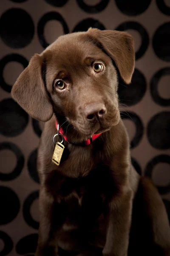
[[43,124],[11,99],[11,86],[34,53],[90,26],[135,39],[135,72],[130,85],[120,81],[120,110],[133,166],[152,178],[170,219],[170,1],[0,1],[0,256],[33,255],[39,227]]

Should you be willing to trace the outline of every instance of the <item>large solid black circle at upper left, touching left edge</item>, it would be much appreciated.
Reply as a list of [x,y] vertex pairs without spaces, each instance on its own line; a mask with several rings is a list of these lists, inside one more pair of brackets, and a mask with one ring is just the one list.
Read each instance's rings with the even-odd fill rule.
[[8,9],[0,17],[0,36],[4,44],[19,49],[31,43],[34,37],[34,23],[23,9]]

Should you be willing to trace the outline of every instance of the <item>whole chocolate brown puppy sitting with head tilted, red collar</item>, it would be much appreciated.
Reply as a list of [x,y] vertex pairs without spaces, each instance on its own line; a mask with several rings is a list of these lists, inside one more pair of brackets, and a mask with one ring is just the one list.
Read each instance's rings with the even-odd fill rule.
[[129,84],[134,63],[127,32],[89,29],[35,54],[14,84],[12,97],[46,122],[36,256],[170,255],[164,204],[133,169],[120,118],[118,78]]

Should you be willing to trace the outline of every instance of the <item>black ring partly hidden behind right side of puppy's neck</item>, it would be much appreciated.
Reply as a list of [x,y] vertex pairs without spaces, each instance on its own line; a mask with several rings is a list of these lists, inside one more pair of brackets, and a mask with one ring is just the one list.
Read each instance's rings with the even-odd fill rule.
[[144,126],[142,124],[142,120],[135,113],[129,111],[121,112],[121,118],[133,121],[136,126],[136,134],[133,137],[133,140],[130,142],[130,148],[135,148],[141,141],[144,133]]

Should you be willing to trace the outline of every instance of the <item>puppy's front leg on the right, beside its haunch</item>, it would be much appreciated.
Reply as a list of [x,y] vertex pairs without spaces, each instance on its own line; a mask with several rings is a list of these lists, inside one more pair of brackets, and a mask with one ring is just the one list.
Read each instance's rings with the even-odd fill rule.
[[132,212],[132,191],[111,201],[104,256],[127,256]]

